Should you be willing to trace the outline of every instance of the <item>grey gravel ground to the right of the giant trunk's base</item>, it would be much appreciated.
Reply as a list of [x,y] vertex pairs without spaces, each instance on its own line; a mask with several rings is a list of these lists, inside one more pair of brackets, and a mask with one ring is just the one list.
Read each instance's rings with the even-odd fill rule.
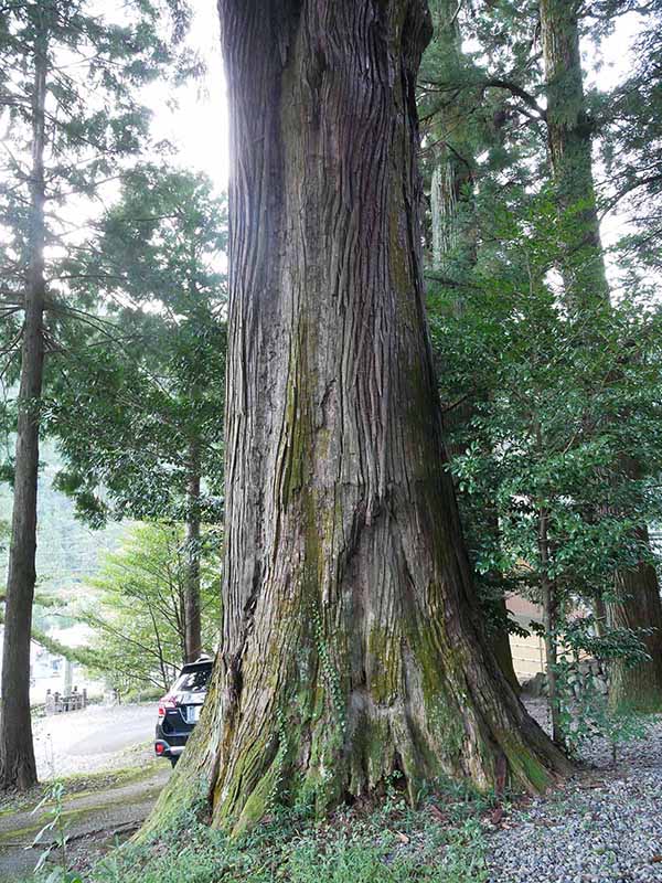
[[[527,703],[545,724],[543,702]],[[645,740],[606,742],[548,798],[523,804],[489,834],[490,883],[662,883],[662,716]]]

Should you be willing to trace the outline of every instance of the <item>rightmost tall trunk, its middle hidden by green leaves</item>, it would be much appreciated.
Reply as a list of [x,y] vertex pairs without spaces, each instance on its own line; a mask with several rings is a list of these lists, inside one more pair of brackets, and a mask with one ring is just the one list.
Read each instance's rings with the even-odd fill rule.
[[[596,208],[591,126],[584,98],[576,7],[567,0],[541,0],[541,32],[549,153],[565,214],[564,286],[568,304],[590,336],[595,311],[609,304],[610,292]],[[600,345],[599,340],[596,343]],[[639,466],[629,457],[621,457],[615,469],[632,480],[639,477]],[[641,526],[640,536],[644,544],[649,543],[645,525]],[[645,639],[651,662],[636,668],[627,668],[618,660],[612,663],[611,701],[655,711],[662,705],[662,602],[654,568],[642,561],[634,570],[618,571],[615,595],[617,600],[607,604],[610,625],[655,630]]]

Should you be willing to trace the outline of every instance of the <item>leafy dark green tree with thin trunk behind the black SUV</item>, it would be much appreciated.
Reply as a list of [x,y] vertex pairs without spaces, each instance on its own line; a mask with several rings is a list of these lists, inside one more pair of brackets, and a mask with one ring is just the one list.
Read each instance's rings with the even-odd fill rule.
[[76,302],[96,315],[66,341],[45,411],[65,461],[57,487],[86,520],[184,522],[188,661],[202,650],[201,526],[222,515],[226,280],[214,265],[226,237],[225,202],[203,175],[126,173],[67,262]]

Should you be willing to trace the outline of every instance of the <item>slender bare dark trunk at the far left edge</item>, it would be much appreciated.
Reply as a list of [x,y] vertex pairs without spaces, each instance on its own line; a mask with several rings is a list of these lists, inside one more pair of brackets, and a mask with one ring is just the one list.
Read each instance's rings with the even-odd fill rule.
[[35,40],[32,94],[29,267],[21,350],[15,477],[0,698],[0,787],[29,788],[36,781],[30,715],[30,637],[36,554],[39,422],[44,360],[44,145],[47,30]]

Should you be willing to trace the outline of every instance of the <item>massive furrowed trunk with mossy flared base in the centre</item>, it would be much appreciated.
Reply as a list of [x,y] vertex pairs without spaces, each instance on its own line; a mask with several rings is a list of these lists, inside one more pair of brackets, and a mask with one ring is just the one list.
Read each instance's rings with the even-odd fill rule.
[[540,789],[562,755],[483,647],[421,290],[421,0],[222,0],[232,108],[223,643],[151,826],[203,775],[241,831],[412,799],[440,774]]

